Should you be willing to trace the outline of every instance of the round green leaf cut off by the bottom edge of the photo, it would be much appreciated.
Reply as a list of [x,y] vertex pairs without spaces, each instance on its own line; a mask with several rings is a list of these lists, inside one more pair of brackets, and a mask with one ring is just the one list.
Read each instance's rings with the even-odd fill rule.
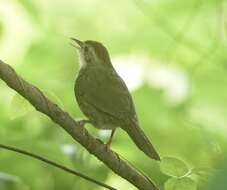
[[191,178],[171,178],[165,182],[165,190],[196,190],[196,182]]

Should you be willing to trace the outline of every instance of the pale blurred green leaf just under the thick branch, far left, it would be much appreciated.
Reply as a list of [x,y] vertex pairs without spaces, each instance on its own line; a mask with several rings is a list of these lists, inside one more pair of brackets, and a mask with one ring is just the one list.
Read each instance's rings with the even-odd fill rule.
[[13,96],[13,99],[12,99],[11,105],[10,105],[10,118],[11,119],[16,119],[17,117],[22,117],[32,110],[34,110],[34,108],[21,95],[16,93]]

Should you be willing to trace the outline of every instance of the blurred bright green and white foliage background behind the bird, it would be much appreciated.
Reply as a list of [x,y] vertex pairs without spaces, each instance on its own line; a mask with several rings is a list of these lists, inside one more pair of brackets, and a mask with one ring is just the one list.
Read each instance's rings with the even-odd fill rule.
[[[185,176],[160,169],[120,129],[112,148],[161,189],[224,190],[226,18],[225,0],[0,0],[0,59],[73,117],[83,118],[73,93],[79,62],[70,37],[102,42],[129,86],[141,127],[162,157],[187,165],[186,182],[171,186]],[[87,128],[103,141],[110,134]],[[45,156],[115,188],[135,189],[2,81],[0,143]],[[0,189],[103,188],[1,149]]]

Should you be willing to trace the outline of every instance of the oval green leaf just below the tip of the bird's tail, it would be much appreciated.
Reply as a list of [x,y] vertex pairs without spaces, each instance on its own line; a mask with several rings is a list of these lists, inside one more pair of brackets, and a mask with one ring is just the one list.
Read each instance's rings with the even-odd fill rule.
[[187,165],[183,161],[173,157],[164,157],[160,163],[160,170],[172,177],[182,177],[189,172]]

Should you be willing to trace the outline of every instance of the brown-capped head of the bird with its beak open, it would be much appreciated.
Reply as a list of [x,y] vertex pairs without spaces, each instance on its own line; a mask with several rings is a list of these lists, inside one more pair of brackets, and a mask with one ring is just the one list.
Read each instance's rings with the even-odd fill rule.
[[96,41],[80,41],[71,38],[76,45],[73,45],[79,50],[82,66],[99,64],[100,66],[112,66],[109,53],[105,46]]

